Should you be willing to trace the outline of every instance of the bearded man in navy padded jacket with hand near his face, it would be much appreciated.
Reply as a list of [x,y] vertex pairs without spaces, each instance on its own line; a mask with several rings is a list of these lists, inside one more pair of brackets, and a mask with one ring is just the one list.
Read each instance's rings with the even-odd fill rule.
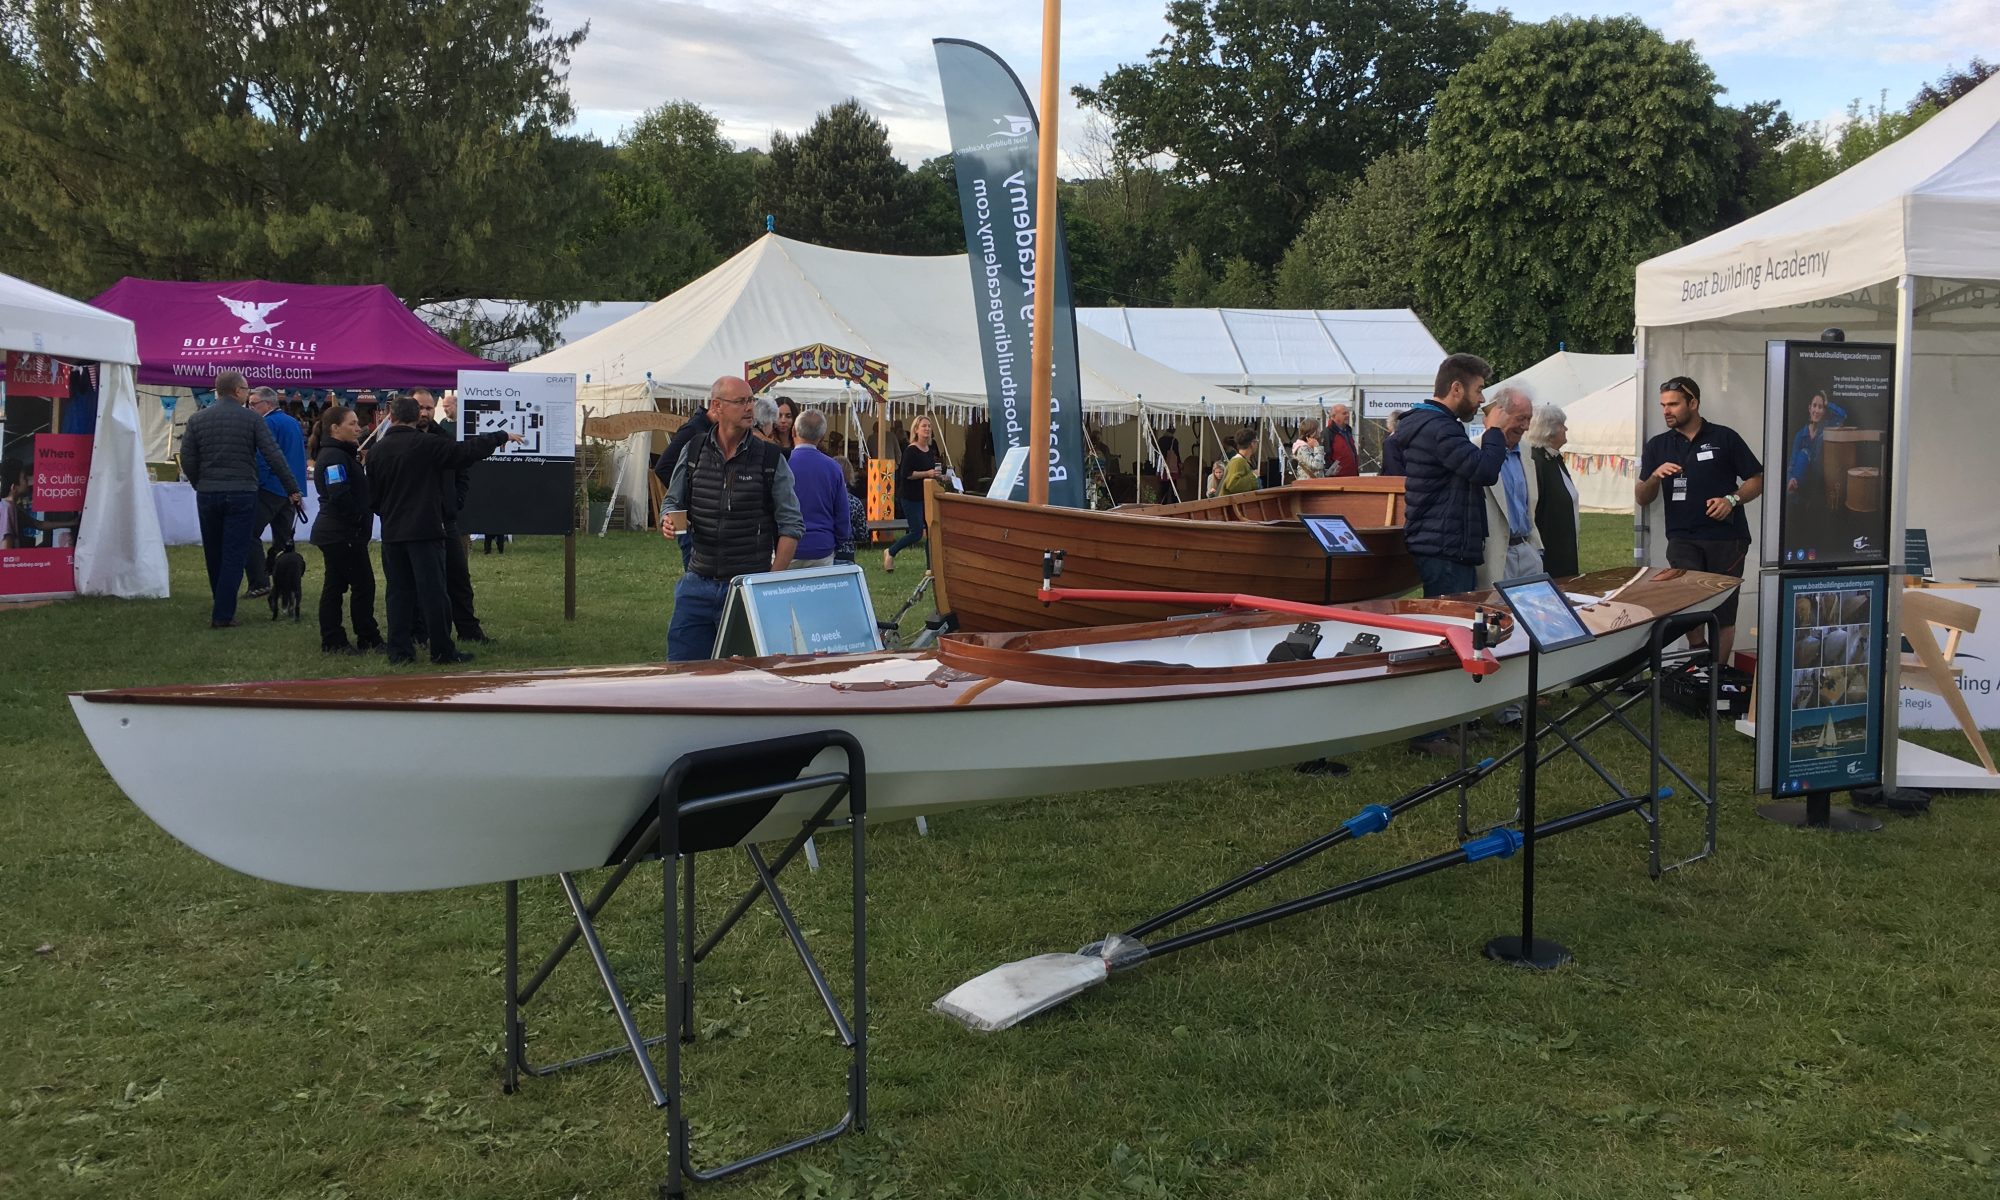
[[1508,434],[1520,418],[1500,410],[1474,444],[1466,422],[1480,410],[1490,368],[1474,354],[1438,366],[1432,398],[1396,422],[1404,470],[1404,540],[1424,580],[1424,596],[1454,596],[1478,586],[1486,556],[1486,488],[1500,480]]

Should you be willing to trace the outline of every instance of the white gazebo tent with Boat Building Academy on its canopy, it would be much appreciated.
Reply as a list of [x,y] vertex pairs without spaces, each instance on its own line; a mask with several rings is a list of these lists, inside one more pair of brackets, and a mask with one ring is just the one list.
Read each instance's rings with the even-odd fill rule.
[[[1850,342],[1894,342],[1890,536],[1900,546],[1906,528],[1926,528],[1938,578],[1994,576],[1996,284],[2000,80],[1988,80],[1818,188],[1640,264],[1636,424],[1660,432],[1650,398],[1688,374],[1702,384],[1702,414],[1740,432],[1774,470],[1778,448],[1762,446],[1764,342],[1810,340],[1830,326]],[[1658,560],[1664,540],[1642,534],[1640,548]],[[1758,562],[1756,546],[1750,554]],[[1752,572],[1746,592],[1754,588]],[[1738,624],[1754,620],[1744,604]],[[1890,696],[1894,664],[1892,654]],[[1890,704],[1890,722],[1896,712]],[[1964,776],[1936,774],[1952,760],[1886,742],[1898,784],[1966,786]]]

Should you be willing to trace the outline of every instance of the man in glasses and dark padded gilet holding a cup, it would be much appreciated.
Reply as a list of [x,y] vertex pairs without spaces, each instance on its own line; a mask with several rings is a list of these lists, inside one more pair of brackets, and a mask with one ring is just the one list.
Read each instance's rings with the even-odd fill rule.
[[786,570],[806,520],[784,452],[750,436],[750,384],[722,376],[708,388],[712,428],[688,442],[674,464],[660,510],[660,532],[688,532],[690,558],[674,586],[666,660],[698,662],[716,644],[716,624],[730,580]]

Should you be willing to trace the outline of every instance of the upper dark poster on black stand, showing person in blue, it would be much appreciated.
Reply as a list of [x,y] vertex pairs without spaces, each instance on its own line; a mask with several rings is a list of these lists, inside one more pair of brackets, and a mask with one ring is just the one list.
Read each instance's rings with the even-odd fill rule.
[[1766,350],[1764,566],[1886,564],[1896,348]]

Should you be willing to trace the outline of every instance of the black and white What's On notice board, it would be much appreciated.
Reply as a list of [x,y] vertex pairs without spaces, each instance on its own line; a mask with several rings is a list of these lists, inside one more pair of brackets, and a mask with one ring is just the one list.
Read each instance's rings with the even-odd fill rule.
[[458,372],[458,438],[520,434],[472,466],[468,534],[566,534],[576,508],[576,376]]

